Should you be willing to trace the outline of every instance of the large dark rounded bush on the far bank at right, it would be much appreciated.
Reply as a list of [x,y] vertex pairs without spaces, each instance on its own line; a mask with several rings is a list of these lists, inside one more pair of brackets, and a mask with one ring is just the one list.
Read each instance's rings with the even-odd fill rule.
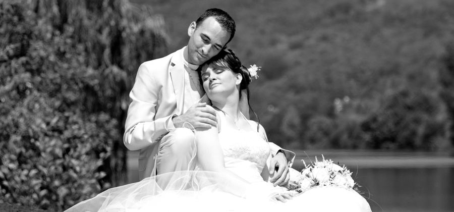
[[391,95],[384,107],[362,124],[369,146],[385,149],[444,147],[447,117],[440,99],[418,91],[402,90]]

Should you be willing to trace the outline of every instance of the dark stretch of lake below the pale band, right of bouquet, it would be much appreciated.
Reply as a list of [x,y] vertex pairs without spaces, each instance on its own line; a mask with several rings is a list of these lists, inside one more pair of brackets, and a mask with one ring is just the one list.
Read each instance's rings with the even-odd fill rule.
[[372,211],[454,211],[452,179],[452,167],[365,168],[355,181],[363,185]]

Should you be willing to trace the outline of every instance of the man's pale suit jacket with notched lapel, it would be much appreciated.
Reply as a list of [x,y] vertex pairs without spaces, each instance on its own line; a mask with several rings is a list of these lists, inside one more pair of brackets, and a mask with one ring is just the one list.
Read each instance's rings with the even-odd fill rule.
[[[123,141],[130,150],[139,150],[140,180],[154,176],[160,139],[168,133],[166,121],[184,113],[185,77],[183,50],[140,65],[130,93],[131,104]],[[189,85],[188,85],[189,86]],[[244,109],[244,105],[242,109]],[[248,109],[241,110],[245,116]],[[248,117],[248,116],[247,116]],[[272,152],[278,147],[273,146]],[[288,154],[287,154],[288,155]],[[290,158],[288,156],[288,158]]]

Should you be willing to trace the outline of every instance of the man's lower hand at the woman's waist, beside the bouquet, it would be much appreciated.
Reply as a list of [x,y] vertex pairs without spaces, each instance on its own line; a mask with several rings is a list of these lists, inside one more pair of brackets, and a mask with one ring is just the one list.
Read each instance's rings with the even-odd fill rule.
[[[275,173],[275,168],[277,172]],[[286,155],[282,152],[278,152],[269,164],[269,174],[274,176],[270,179],[273,186],[286,186],[290,180],[289,165],[287,163]]]

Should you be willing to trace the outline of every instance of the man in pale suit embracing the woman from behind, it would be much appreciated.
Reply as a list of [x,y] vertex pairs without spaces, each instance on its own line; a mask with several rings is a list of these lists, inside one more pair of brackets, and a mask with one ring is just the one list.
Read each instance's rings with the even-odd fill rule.
[[[195,149],[194,128],[216,125],[216,112],[206,104],[207,97],[195,71],[229,43],[235,35],[235,21],[219,9],[206,10],[188,28],[188,45],[160,59],[143,63],[131,90],[131,104],[124,134],[130,150],[139,150],[139,179],[188,170]],[[241,112],[249,117],[246,95]],[[189,126],[188,124],[185,125]],[[293,152],[270,143],[270,179],[274,185],[287,184],[288,162]]]

